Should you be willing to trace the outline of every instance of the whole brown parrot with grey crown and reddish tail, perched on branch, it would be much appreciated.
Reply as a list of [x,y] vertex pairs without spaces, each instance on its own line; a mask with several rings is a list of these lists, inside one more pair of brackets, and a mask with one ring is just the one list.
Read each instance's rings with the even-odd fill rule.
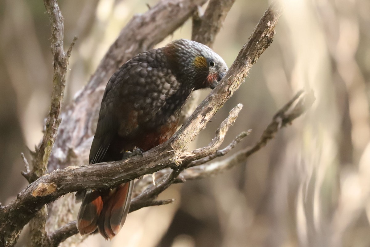
[[[147,151],[168,140],[193,90],[211,88],[228,67],[218,54],[195,41],[180,39],[145,51],[124,63],[108,81],[92,141],[89,163],[117,161],[127,151]],[[108,239],[125,222],[134,181],[114,188],[78,191],[81,234],[97,228]]]

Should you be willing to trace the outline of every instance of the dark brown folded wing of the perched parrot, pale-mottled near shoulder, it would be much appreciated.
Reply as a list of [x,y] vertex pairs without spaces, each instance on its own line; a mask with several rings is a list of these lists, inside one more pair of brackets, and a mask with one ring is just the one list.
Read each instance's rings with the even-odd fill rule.
[[147,51],[129,60],[111,77],[101,103],[90,164],[117,160],[111,159],[112,155],[105,157],[115,137],[134,136],[140,127],[161,125],[154,118],[179,88],[166,62],[161,49]]

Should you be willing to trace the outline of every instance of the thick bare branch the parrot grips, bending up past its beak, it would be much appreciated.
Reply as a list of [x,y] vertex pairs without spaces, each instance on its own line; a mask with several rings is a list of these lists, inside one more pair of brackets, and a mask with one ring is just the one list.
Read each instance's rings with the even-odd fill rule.
[[196,134],[238,89],[250,67],[272,42],[274,29],[281,13],[282,9],[276,6],[266,10],[248,43],[240,51],[219,86],[209,94],[175,136],[166,143],[145,152],[143,157],[68,167],[38,178],[21,191],[9,205],[0,209],[0,231],[4,233],[0,241],[4,243],[5,240],[16,237],[24,224],[46,203],[68,192],[115,186],[144,174],[154,173],[165,167],[176,168],[180,164],[188,164],[214,153],[216,151],[214,147],[192,152],[185,150]]

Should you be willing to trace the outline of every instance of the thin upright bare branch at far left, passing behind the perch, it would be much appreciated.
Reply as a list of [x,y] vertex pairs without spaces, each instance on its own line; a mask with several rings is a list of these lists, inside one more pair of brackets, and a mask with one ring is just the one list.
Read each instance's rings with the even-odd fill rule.
[[[60,109],[63,103],[65,78],[67,75],[68,59],[71,56],[72,48],[77,40],[74,37],[71,46],[67,53],[63,47],[63,16],[59,9],[56,0],[44,0],[46,11],[49,15],[51,26],[51,52],[53,53],[53,91],[51,93],[50,111],[46,120],[43,140],[34,155],[33,167],[30,171],[26,158],[23,160],[26,163],[26,172],[21,174],[32,183],[37,178],[47,173],[47,165],[57,131],[60,124]],[[36,216],[30,221],[30,235],[32,246],[44,246],[48,242],[46,233],[46,206],[36,213]]]

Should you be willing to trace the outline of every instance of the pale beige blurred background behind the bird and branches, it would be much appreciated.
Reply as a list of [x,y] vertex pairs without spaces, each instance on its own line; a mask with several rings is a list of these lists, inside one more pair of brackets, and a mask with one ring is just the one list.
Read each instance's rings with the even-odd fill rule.
[[[370,1],[283,2],[274,42],[193,147],[208,144],[238,103],[244,107],[225,144],[243,130],[253,132],[234,151],[255,143],[273,114],[302,88],[315,91],[308,113],[245,164],[170,187],[161,198],[175,198],[174,204],[129,214],[113,241],[92,236],[79,246],[370,246]],[[87,83],[127,21],[156,3],[59,1],[65,46],[79,37],[64,104]],[[229,66],[268,5],[236,0],[213,47]],[[3,205],[27,185],[20,153],[42,137],[51,95],[50,36],[43,1],[0,1]],[[187,21],[158,47],[190,37]]]

